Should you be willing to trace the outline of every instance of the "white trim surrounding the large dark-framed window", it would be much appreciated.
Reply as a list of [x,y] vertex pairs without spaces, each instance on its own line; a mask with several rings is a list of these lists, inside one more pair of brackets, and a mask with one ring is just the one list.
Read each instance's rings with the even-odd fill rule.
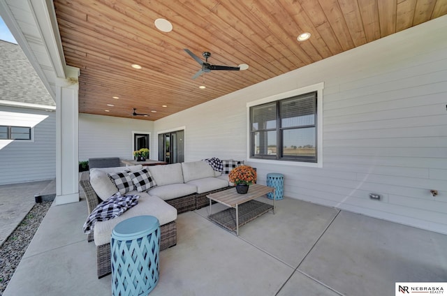
[[[281,94],[275,94],[273,96],[268,96],[266,98],[261,98],[256,101],[251,101],[247,103],[247,159],[254,163],[271,163],[275,165],[295,165],[295,166],[306,166],[314,168],[323,168],[323,89],[324,82],[317,84],[312,84],[307,87],[301,87],[300,89],[293,89],[292,91],[286,91]],[[250,107],[256,105],[262,105],[265,103],[270,103],[274,101],[279,101],[284,98],[291,98],[293,96],[299,96],[301,94],[308,94],[310,92],[316,91],[316,141],[317,141],[317,151],[316,151],[316,163],[308,163],[303,161],[279,161],[273,159],[260,159],[252,158],[250,154]]]

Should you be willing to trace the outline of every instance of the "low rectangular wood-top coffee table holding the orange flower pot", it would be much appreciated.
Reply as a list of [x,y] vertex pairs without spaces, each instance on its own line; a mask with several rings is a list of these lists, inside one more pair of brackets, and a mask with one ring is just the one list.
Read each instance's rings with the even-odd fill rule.
[[[267,193],[273,193],[273,205],[254,200]],[[207,195],[210,198],[210,216],[208,219],[223,226],[224,228],[235,231],[239,235],[239,227],[256,219],[258,216],[273,211],[274,214],[274,188],[260,184],[249,186],[247,194],[239,194],[236,188],[230,188],[225,191],[219,191]],[[221,212],[212,214],[212,201],[221,203],[229,207]]]

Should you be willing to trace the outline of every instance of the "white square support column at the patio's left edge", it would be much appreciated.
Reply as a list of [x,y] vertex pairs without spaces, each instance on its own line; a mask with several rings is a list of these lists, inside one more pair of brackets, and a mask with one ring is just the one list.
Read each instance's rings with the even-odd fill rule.
[[[72,67],[70,67],[72,68]],[[56,198],[55,205],[79,201],[78,76],[56,78]]]

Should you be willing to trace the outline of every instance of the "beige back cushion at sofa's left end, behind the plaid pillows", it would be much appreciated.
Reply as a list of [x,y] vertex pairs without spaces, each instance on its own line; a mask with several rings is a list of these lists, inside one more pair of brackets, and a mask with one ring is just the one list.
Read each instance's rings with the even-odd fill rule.
[[107,200],[110,196],[118,192],[117,186],[110,180],[108,173],[110,172],[124,172],[130,170],[131,172],[138,172],[142,169],[142,165],[131,165],[128,167],[115,168],[92,168],[90,170],[90,184],[93,187],[96,195],[101,200]]

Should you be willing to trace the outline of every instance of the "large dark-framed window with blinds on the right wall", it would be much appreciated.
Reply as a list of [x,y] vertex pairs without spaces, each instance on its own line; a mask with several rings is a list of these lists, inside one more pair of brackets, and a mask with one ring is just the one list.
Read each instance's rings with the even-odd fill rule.
[[251,107],[251,157],[316,163],[316,122],[316,91]]

